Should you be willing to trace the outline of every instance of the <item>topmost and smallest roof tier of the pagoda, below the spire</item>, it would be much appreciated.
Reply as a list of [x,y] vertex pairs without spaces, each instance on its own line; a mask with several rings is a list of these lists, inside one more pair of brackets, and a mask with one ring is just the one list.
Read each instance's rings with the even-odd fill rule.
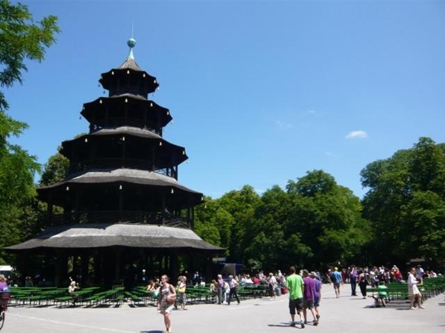
[[102,73],[99,78],[104,89],[109,90],[110,96],[121,94],[125,90],[134,89],[137,94],[147,96],[159,87],[154,76],[139,68],[134,59],[128,58],[119,68]]

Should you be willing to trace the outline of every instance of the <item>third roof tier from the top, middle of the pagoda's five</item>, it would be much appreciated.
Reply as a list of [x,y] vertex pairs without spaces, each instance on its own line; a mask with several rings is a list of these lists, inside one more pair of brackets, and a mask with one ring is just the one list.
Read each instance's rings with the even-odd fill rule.
[[[125,157],[122,150],[123,144],[126,146]],[[92,157],[92,145],[95,145],[94,157]],[[74,155],[72,155],[73,151],[75,151]],[[153,170],[177,166],[188,159],[184,147],[171,144],[149,130],[129,126],[102,128],[62,142],[60,153],[72,160],[71,162],[88,162],[88,160],[93,162],[101,158],[149,160],[150,165],[147,163],[147,168]]]

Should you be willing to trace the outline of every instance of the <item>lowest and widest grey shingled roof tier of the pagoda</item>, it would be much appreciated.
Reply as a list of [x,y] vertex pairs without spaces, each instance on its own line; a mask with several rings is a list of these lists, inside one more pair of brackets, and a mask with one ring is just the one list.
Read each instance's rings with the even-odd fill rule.
[[45,229],[29,241],[5,249],[37,250],[39,248],[107,248],[111,246],[191,249],[213,253],[225,250],[203,241],[190,229],[133,223],[57,225]]

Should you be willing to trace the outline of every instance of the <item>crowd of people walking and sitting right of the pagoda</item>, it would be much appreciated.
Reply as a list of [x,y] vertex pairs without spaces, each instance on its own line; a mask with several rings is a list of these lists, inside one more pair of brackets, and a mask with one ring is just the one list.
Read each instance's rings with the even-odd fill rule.
[[[289,268],[289,275],[278,270],[276,273],[265,274],[264,271],[258,271],[254,275],[240,273],[238,275],[217,275],[212,280],[209,291],[218,305],[230,305],[232,300],[240,304],[238,296],[238,286],[262,285],[267,290],[270,300],[275,300],[277,296],[289,293],[289,313],[291,315],[291,326],[300,325],[304,328],[309,322],[309,316],[312,318],[312,325],[318,325],[321,312],[321,290],[323,282],[332,284],[336,297],[341,295],[341,286],[350,284],[350,295],[357,296],[357,285],[362,297],[366,298],[368,286],[378,289],[378,301],[385,307],[387,296],[387,284],[391,282],[407,284],[410,293],[410,309],[415,309],[414,302],[417,302],[419,309],[424,309],[422,296],[418,286],[422,284],[424,278],[435,278],[437,273],[434,271],[424,271],[421,266],[410,268],[405,275],[406,280],[397,266],[387,268],[385,266],[356,267],[354,265],[348,268],[333,267],[328,269],[324,275],[318,271],[309,272],[306,269],[298,273],[295,267]],[[166,278],[166,275],[163,275]],[[195,273],[191,284],[204,284],[200,275]],[[166,287],[165,280],[159,282],[153,280],[148,286],[147,291],[155,297],[159,297],[158,309],[164,315],[166,332],[171,332],[170,312],[178,305],[181,309],[186,309],[186,288],[187,278],[180,276],[176,287],[171,284]],[[168,298],[171,297],[171,298]],[[173,299],[174,298],[174,299]],[[310,313],[310,314],[309,314]],[[296,315],[298,318],[296,319]]]

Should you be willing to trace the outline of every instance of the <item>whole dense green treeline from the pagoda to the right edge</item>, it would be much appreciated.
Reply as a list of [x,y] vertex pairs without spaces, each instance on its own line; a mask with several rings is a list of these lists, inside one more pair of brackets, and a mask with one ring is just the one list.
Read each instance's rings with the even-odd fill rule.
[[445,145],[421,137],[412,149],[368,164],[362,202],[324,171],[309,171],[259,196],[248,185],[197,210],[196,232],[249,267],[405,264],[445,258]]

